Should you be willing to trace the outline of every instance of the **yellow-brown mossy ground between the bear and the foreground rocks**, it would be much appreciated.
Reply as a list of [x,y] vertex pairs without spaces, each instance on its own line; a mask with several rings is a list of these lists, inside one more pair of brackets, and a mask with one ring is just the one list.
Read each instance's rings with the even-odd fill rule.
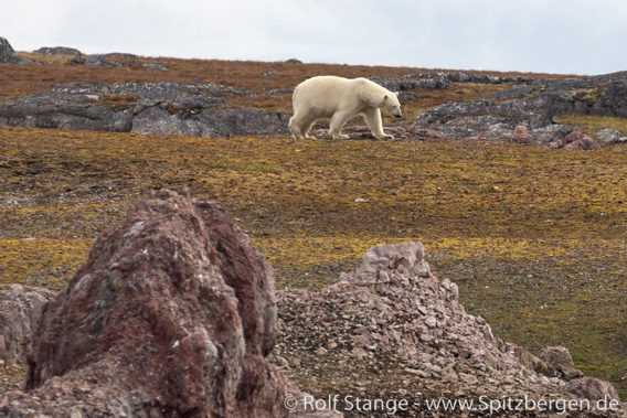
[[229,210],[279,287],[320,289],[372,246],[421,240],[496,334],[565,345],[625,390],[626,153],[1,128],[0,282],[62,288],[137,200],[188,187]]

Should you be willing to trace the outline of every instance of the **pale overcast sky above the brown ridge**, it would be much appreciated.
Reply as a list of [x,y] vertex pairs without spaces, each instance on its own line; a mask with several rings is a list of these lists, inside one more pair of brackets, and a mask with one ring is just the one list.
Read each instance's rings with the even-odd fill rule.
[[627,69],[626,0],[19,0],[17,51],[446,69]]

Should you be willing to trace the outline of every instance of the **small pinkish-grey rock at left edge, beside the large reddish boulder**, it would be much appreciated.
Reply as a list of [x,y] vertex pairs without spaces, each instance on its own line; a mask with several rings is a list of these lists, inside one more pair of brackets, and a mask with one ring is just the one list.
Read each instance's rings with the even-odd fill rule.
[[54,292],[21,285],[0,286],[0,361],[26,364],[43,306]]

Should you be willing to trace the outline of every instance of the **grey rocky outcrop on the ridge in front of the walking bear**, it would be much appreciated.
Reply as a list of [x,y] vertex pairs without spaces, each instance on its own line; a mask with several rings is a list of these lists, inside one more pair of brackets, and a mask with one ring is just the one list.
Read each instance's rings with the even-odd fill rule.
[[573,127],[555,122],[555,115],[627,116],[625,72],[570,79],[509,77],[507,83],[513,86],[477,101],[427,109],[414,126],[454,139],[489,140],[507,138],[517,126],[523,126],[533,140],[548,144],[573,131]]

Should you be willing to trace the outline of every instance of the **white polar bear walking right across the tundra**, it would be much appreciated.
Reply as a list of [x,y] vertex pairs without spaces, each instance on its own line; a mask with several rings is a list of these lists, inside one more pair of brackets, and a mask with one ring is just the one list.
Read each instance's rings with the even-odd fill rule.
[[318,119],[331,119],[329,133],[333,139],[348,139],[342,135],[344,124],[362,115],[376,139],[394,139],[383,132],[381,109],[400,118],[398,93],[392,93],[365,78],[343,78],[331,75],[311,77],[300,83],[291,96],[294,116],[289,130],[294,138],[314,138],[309,130]]

